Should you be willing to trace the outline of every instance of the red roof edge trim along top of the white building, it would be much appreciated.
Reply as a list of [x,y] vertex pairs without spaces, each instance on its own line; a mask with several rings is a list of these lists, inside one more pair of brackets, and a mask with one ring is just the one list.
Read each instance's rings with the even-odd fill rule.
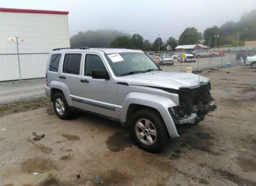
[[68,15],[66,11],[54,11],[54,10],[30,10],[19,8],[0,8],[0,12],[16,12],[16,13],[34,13],[34,14],[61,14]]

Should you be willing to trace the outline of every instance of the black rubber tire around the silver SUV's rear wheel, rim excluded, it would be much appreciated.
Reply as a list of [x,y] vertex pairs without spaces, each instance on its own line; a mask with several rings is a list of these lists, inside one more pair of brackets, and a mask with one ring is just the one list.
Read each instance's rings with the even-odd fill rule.
[[[63,114],[59,114],[57,109],[56,109],[56,100],[57,99],[60,99],[63,104],[64,104],[64,112]],[[70,108],[68,106],[68,103],[66,101],[66,98],[64,96],[64,94],[62,92],[56,92],[53,96],[53,108],[54,108],[54,111],[56,113],[56,115],[58,116],[58,118],[62,119],[62,120],[67,120],[68,118],[70,118],[71,116],[71,111],[70,111]]]

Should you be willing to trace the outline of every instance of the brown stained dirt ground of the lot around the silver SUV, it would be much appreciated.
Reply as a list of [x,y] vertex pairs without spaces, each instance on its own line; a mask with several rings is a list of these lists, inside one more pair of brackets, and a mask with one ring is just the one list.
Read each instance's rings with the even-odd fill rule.
[[217,110],[178,128],[181,137],[158,154],[117,122],[84,113],[60,120],[49,100],[0,107],[0,186],[256,186],[256,70],[202,75]]

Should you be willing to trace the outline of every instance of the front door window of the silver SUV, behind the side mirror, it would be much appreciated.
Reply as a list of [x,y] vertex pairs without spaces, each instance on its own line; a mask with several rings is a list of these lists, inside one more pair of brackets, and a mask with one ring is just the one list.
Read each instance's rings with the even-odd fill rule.
[[99,56],[87,54],[84,66],[84,75],[92,76],[92,70],[96,69],[103,70],[104,72],[106,72],[106,68]]

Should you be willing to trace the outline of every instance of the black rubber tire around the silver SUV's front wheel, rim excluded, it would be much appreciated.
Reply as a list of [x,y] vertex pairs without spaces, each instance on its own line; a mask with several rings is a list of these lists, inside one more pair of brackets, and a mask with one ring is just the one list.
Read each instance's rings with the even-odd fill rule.
[[[149,120],[156,130],[156,139],[152,145],[142,143],[136,135],[136,122],[142,118]],[[162,117],[158,112],[152,109],[141,109],[136,111],[131,118],[130,131],[138,146],[148,152],[159,152],[164,148],[168,139],[168,132]]]

